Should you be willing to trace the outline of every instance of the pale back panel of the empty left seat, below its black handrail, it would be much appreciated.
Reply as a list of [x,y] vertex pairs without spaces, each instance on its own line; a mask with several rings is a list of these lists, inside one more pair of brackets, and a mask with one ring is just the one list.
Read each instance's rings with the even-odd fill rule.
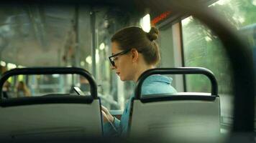
[[24,97],[1,101],[0,138],[101,136],[100,100],[92,97]]

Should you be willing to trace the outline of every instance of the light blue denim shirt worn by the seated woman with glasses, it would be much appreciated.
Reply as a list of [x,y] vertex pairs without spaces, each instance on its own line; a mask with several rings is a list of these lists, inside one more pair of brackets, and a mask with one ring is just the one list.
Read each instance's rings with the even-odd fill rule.
[[[152,75],[147,77],[142,84],[142,97],[147,94],[171,94],[175,93],[176,90],[170,85],[173,79],[170,77],[165,77],[162,75]],[[134,97],[134,95],[132,96]],[[132,97],[129,99],[125,105],[124,112],[122,114],[121,120],[114,119],[114,127],[111,126],[109,122],[104,124],[104,135],[114,136],[114,135],[126,135],[128,132],[129,124],[129,114],[131,109]]]

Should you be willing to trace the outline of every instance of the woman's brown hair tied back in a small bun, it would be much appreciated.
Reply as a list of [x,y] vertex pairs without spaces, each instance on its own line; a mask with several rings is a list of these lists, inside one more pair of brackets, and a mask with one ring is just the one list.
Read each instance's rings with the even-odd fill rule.
[[140,27],[131,26],[116,32],[111,38],[111,42],[116,42],[120,49],[137,49],[147,64],[157,64],[160,61],[160,51],[155,39],[159,31],[151,27],[150,32],[143,31]]

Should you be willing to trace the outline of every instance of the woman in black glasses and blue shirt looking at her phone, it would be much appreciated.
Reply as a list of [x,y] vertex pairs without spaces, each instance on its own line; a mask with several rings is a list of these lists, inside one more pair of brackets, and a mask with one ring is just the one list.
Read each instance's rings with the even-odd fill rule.
[[[160,61],[160,50],[155,42],[157,36],[158,30],[155,27],[146,33],[136,26],[117,31],[112,36],[112,56],[109,56],[109,60],[111,69],[115,70],[122,81],[137,82],[144,71],[155,68]],[[169,77],[152,75],[143,82],[142,95],[175,93],[176,90],[170,86],[171,81]],[[106,107],[101,108],[105,135],[127,134],[130,102],[131,99],[126,104],[121,121],[109,114]]]

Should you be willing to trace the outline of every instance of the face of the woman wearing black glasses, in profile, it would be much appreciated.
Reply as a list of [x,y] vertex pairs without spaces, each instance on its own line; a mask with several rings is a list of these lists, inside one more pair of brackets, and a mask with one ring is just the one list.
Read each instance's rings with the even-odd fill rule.
[[[124,50],[119,49],[119,45],[116,42],[112,42],[112,55],[122,52]],[[134,79],[134,68],[132,65],[132,54],[129,51],[127,54],[115,56],[115,66],[111,66],[111,69],[116,71],[116,74],[122,81],[130,81]]]

